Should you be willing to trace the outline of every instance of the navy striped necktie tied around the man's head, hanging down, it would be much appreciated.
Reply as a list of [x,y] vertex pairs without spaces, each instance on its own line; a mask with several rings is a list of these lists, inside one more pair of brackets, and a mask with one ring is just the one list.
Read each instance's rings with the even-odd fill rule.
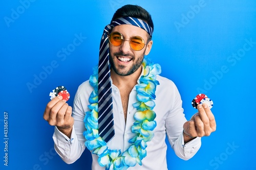
[[98,68],[98,132],[105,142],[111,140],[115,135],[108,34],[112,28],[124,24],[137,26],[145,30],[150,36],[153,34],[153,29],[146,22],[133,17],[118,18],[107,25],[103,31],[100,41]]

